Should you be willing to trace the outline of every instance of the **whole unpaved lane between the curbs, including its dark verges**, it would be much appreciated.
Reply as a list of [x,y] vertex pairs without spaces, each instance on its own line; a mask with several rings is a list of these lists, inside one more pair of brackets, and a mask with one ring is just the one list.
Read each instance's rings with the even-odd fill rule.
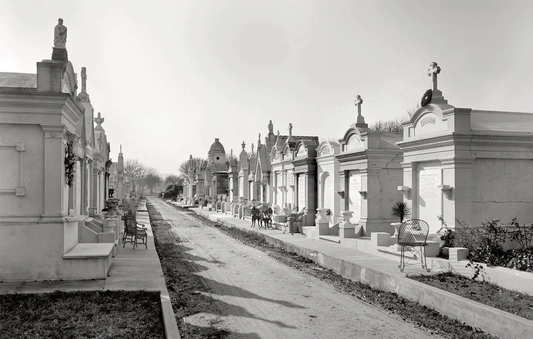
[[[165,204],[159,199],[151,199],[151,202],[163,212],[161,217],[154,206],[149,204],[152,223],[155,224],[156,247],[180,333],[185,338],[489,337],[462,325],[459,321],[443,317],[431,309],[394,294],[353,283],[303,257],[265,244],[246,233],[221,227],[184,209]],[[184,231],[189,232],[190,237],[184,234],[180,237],[180,232]],[[197,239],[197,236],[205,236],[206,233],[206,238],[215,241]],[[205,244],[208,245],[194,248],[195,243],[203,241],[207,241]],[[231,249],[220,248],[220,244],[224,243],[231,245]],[[235,254],[236,250],[243,248],[248,250]],[[202,253],[203,259],[190,260],[191,252],[198,254],[198,249],[205,251]],[[232,251],[230,261],[236,262],[239,261],[236,259],[240,259],[238,265],[241,267],[228,270],[230,262],[221,259],[224,251]],[[259,256],[263,257],[257,267]],[[268,257],[272,260],[267,261]],[[198,262],[201,265],[198,265]],[[232,308],[230,303],[235,300],[225,300],[221,303],[216,292],[213,294],[213,289],[216,290],[216,284],[220,281],[209,278],[209,275],[213,274],[209,271],[213,269],[206,268],[206,263],[214,265],[219,271],[223,270],[223,276],[226,279],[229,277],[230,280],[226,285],[230,287],[243,284],[243,281],[236,281],[234,278],[239,275],[242,278],[246,276],[243,273],[247,273],[240,290],[232,290],[226,286],[229,288],[228,295],[253,291],[253,296],[248,300],[252,304],[239,305],[239,310],[245,311],[245,321],[243,314],[239,312],[228,314],[228,309]],[[244,268],[248,266],[248,270],[238,272],[239,269],[243,270],[243,265]],[[252,276],[249,274],[250,269],[254,271]],[[290,280],[294,276],[297,279],[291,283]],[[213,280],[216,280],[215,283]],[[261,285],[266,288],[256,287]],[[263,297],[258,297],[259,295]],[[258,299],[267,301],[261,304],[259,310]],[[282,304],[287,302],[289,304]],[[285,308],[288,310],[284,310]],[[258,312],[260,314],[256,314]],[[262,317],[272,320],[261,320]],[[255,323],[250,324],[250,318],[254,319]],[[244,329],[249,330],[247,332]]]

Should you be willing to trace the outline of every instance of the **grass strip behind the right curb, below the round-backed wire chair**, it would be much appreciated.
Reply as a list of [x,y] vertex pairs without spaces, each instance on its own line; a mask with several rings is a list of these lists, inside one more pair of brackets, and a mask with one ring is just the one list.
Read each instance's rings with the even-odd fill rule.
[[533,296],[525,293],[499,287],[486,281],[474,281],[449,272],[431,276],[408,275],[407,277],[496,309],[533,320]]

